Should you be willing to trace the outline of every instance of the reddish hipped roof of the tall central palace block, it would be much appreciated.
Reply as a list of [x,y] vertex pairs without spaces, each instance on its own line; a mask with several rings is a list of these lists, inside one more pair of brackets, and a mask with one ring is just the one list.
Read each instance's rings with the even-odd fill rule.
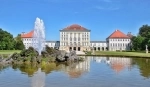
[[82,27],[81,25],[72,24],[72,25],[64,28],[62,31],[89,31],[89,30]]

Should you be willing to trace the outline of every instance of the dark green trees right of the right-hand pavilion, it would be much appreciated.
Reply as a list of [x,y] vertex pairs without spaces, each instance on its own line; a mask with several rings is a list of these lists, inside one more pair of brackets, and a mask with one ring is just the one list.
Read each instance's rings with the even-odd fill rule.
[[148,46],[150,50],[150,26],[143,25],[139,28],[138,35],[131,38],[131,49],[135,51],[144,51]]

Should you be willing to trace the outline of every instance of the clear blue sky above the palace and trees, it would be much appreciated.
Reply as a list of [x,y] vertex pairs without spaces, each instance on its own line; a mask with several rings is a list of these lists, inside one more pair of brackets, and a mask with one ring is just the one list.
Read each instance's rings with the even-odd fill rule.
[[150,0],[0,0],[0,28],[17,36],[44,21],[46,40],[59,40],[59,30],[79,24],[91,40],[103,41],[116,29],[138,34],[150,25]]

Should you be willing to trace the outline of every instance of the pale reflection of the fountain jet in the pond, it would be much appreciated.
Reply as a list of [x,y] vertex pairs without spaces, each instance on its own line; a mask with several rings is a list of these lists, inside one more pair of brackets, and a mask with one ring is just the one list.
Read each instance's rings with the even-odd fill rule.
[[44,87],[45,86],[45,73],[41,71],[41,68],[33,75],[31,87]]

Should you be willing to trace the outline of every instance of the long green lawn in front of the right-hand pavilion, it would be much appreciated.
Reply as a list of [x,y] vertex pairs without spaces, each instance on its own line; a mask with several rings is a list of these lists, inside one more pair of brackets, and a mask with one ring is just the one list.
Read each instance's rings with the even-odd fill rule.
[[150,53],[146,54],[142,52],[115,52],[115,51],[95,51],[95,55],[150,57]]

